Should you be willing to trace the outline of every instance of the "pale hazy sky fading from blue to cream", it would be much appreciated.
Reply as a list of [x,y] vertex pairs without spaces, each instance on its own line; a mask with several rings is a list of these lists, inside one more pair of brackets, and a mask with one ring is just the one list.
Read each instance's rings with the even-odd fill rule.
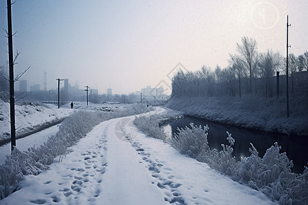
[[[82,89],[129,93],[163,85],[179,63],[186,70],[228,65],[242,36],[255,38],[258,51],[285,55],[286,15],[290,53],[308,50],[308,1],[47,1],[17,0],[12,5],[15,73],[47,89],[67,78]],[[7,28],[6,1],[0,1],[0,27]],[[8,40],[0,35],[0,65],[8,60]]]

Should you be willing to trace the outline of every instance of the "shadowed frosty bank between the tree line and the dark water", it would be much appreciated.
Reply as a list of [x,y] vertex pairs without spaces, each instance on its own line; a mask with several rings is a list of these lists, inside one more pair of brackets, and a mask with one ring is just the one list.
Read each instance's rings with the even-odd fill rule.
[[297,99],[290,100],[290,118],[286,118],[284,98],[172,98],[167,107],[213,122],[287,135],[308,135],[308,103]]

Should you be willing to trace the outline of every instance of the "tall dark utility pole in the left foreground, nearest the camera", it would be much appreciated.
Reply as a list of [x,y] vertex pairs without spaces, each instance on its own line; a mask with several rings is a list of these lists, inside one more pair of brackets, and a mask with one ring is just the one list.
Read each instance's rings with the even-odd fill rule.
[[11,151],[16,146],[15,130],[15,96],[14,96],[14,59],[13,59],[13,35],[12,35],[12,12],[11,0],[7,1],[8,5],[8,49],[9,49],[9,70],[10,70],[10,121],[11,121]]

